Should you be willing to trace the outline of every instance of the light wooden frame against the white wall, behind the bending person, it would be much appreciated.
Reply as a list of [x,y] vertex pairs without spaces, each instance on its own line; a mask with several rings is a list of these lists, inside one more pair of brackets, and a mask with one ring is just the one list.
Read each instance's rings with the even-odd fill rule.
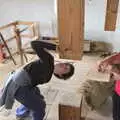
[[[24,29],[20,30],[19,26],[25,26]],[[26,27],[27,26],[27,27]],[[16,44],[17,44],[17,52],[21,56],[21,64],[24,64],[24,59],[23,56],[25,56],[23,52],[23,46],[22,46],[22,38],[29,38],[31,40],[37,40],[40,37],[40,32],[39,32],[39,23],[38,22],[27,22],[27,21],[15,21],[12,23],[9,23],[7,25],[4,25],[0,27],[0,32],[5,31],[6,29],[12,29],[14,32],[14,35],[8,39],[5,39],[5,42],[9,42],[11,40],[16,39]],[[30,34],[22,34],[24,31],[30,30]],[[2,33],[2,32],[1,32]],[[26,45],[26,44],[25,44]],[[25,56],[26,58],[26,56]],[[27,60],[27,59],[26,59]]]

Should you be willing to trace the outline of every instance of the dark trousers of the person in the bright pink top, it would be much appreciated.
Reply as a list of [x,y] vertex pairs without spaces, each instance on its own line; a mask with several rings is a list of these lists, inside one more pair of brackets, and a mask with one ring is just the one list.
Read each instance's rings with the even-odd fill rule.
[[113,120],[120,120],[120,96],[113,94]]

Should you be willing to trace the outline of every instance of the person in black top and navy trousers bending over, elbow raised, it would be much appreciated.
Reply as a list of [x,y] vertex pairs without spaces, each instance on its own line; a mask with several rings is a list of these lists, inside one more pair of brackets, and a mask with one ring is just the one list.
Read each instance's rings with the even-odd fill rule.
[[44,97],[36,87],[50,81],[52,74],[60,79],[68,79],[74,74],[74,66],[70,63],[54,65],[53,56],[47,51],[56,47],[43,41],[32,41],[31,46],[38,55],[35,60],[9,76],[0,98],[0,105],[11,109],[14,99],[22,104],[19,110],[32,111],[33,120],[43,120],[46,103]]

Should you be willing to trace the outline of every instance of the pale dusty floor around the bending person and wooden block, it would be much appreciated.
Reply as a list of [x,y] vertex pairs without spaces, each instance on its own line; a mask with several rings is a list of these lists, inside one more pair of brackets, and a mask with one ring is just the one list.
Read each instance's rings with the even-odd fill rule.
[[[30,60],[36,59],[36,56],[27,55]],[[55,55],[56,61],[63,61],[58,59],[57,55]],[[19,64],[19,57],[16,58]],[[85,54],[81,61],[73,61],[74,66],[76,67],[75,75],[68,81],[63,81],[52,77],[51,81],[43,86],[39,86],[42,94],[45,96],[45,100],[47,103],[46,108],[46,116],[45,120],[58,120],[58,103],[61,99],[61,96],[65,92],[76,92],[83,81],[85,81],[85,76],[90,67],[92,67],[97,60],[100,58],[95,55]],[[66,60],[64,60],[66,61]],[[0,85],[3,85],[3,78],[5,78],[6,74],[19,67],[19,65],[15,66],[11,60],[6,61],[4,64],[0,64]],[[15,117],[15,109],[19,103],[15,102],[14,107],[10,114],[7,114],[4,110],[0,112],[0,120],[16,120]],[[86,120],[112,120],[112,102],[111,99],[107,101],[104,107],[102,107],[98,111],[89,112]],[[27,118],[26,120],[31,120],[31,118]]]

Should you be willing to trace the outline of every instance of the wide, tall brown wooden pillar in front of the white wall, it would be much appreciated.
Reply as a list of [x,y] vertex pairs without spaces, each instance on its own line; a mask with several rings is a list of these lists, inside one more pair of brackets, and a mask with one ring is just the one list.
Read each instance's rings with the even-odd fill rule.
[[60,58],[80,60],[83,54],[85,0],[58,0]]

